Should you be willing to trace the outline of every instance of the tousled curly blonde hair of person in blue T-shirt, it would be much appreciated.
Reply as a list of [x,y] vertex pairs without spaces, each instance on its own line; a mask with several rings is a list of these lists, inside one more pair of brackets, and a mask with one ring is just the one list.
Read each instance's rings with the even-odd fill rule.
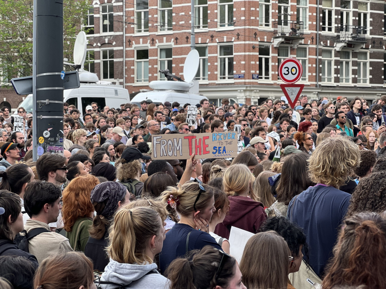
[[359,162],[359,149],[352,141],[343,137],[328,138],[316,147],[309,159],[311,181],[338,189]]

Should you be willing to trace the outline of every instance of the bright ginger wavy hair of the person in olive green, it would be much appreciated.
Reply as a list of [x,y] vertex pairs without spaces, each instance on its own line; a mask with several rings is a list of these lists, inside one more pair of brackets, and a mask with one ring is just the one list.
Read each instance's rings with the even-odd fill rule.
[[88,174],[75,177],[64,189],[62,217],[66,232],[71,232],[78,218],[88,217],[94,212],[90,197],[91,190],[97,184],[99,184],[98,179]]

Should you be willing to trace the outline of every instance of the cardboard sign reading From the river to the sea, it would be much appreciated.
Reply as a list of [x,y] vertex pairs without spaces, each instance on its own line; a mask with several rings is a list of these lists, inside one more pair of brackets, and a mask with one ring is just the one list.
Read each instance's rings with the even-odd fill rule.
[[237,132],[213,134],[172,134],[152,136],[152,159],[188,160],[234,158],[237,155]]

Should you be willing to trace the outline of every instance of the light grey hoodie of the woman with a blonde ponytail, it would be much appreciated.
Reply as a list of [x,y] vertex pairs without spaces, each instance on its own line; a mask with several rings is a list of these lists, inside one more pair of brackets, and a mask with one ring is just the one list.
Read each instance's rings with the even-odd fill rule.
[[[140,289],[168,289],[169,281],[157,272],[157,264],[123,264],[110,258],[100,281],[108,281],[117,285],[101,284],[102,289],[113,289],[119,287],[140,288]],[[153,271],[154,274],[148,274]],[[146,276],[145,276],[146,275]]]

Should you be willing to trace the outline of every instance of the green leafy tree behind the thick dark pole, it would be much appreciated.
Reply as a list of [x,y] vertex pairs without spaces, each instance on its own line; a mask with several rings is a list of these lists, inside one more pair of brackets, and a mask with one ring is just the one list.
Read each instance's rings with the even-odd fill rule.
[[[64,57],[73,61],[76,35],[86,24],[88,0],[63,0]],[[33,0],[0,1],[0,84],[32,75]]]

